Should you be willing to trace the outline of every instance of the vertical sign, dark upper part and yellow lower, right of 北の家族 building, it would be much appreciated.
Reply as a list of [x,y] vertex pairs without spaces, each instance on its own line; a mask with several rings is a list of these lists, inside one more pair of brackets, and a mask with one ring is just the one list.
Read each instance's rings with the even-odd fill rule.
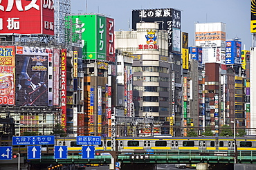
[[182,61],[183,69],[188,69],[188,33],[182,32]]

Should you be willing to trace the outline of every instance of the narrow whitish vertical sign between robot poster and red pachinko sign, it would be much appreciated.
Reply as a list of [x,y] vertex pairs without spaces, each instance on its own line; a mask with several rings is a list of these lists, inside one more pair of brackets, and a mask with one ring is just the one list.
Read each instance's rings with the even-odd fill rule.
[[59,106],[60,97],[60,50],[53,49],[53,106]]

